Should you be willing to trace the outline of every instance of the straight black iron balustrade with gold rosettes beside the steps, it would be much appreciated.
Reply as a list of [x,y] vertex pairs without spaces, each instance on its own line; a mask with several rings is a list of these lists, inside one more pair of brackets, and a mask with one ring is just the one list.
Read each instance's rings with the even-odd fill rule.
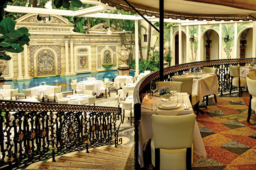
[[0,100],[0,112],[0,169],[122,143],[118,107]]

